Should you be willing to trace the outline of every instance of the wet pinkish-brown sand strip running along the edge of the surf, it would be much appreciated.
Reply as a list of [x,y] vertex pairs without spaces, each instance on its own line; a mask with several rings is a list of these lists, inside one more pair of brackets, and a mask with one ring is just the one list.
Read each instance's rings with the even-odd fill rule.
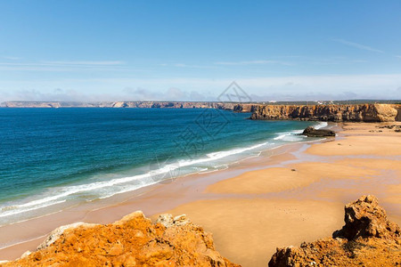
[[[168,210],[175,205],[181,205],[195,199],[201,199],[201,191],[206,190],[209,183],[229,179],[243,172],[257,170],[266,166],[260,165],[258,161],[266,158],[274,165],[282,164],[286,160],[293,159],[286,155],[291,151],[296,152],[304,145],[313,142],[294,142],[285,143],[271,150],[260,152],[259,156],[242,158],[236,162],[230,163],[229,167],[222,170],[212,171],[209,173],[193,173],[174,178],[172,182],[158,182],[145,186],[138,190],[128,191],[117,194],[110,198],[96,199],[88,203],[82,203],[78,206],[67,207],[63,210],[45,214],[28,220],[10,223],[0,226],[0,260],[13,260],[20,257],[25,251],[33,250],[39,245],[45,236],[55,228],[70,223],[113,223],[126,214],[130,214],[135,210],[143,210],[147,216],[160,213],[162,210]],[[264,160],[264,159],[263,159]],[[190,184],[192,192],[196,192],[190,198],[180,198],[171,204],[163,204],[152,206],[147,203],[141,203],[142,200],[149,201],[149,198],[168,198],[169,191],[185,190],[182,186],[183,182]],[[163,196],[164,195],[164,196]],[[157,197],[159,196],[159,197]],[[137,203],[137,204],[136,204]],[[128,206],[128,207],[126,207]],[[134,209],[133,209],[134,208]],[[110,213],[112,214],[110,216]],[[72,215],[71,215],[72,214]],[[32,231],[32,228],[39,229]],[[28,231],[28,233],[27,233]],[[14,239],[15,233],[23,233],[20,239]],[[18,236],[18,235],[17,235]],[[4,242],[4,240],[6,240]]]

